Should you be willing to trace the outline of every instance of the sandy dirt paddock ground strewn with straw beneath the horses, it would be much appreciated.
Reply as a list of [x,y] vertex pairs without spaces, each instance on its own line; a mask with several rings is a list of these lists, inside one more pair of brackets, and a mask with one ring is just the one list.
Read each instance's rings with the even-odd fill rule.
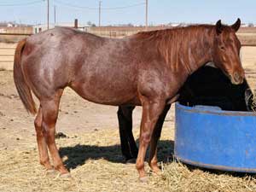
[[[117,108],[86,102],[73,90],[61,99],[57,139],[71,178],[47,175],[38,163],[33,117],[23,108],[12,72],[0,72],[0,191],[256,191],[253,175],[212,172],[173,160],[174,113],[168,113],[159,144],[161,175],[138,182],[119,146]],[[134,113],[138,137],[141,108]]]

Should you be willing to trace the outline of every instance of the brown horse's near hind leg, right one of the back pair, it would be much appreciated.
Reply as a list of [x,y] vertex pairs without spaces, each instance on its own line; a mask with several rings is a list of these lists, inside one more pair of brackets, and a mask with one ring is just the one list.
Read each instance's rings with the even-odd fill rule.
[[41,101],[43,113],[43,129],[44,137],[49,148],[49,153],[53,160],[55,170],[61,174],[67,173],[66,167],[63,165],[60,154],[55,144],[55,124],[58,117],[59,104],[63,90],[55,92],[55,96]]

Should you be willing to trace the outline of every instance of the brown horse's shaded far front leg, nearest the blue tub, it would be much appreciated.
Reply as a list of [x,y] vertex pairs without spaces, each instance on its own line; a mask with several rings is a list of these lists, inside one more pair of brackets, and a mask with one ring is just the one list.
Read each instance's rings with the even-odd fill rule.
[[154,132],[150,142],[148,164],[153,170],[153,172],[155,173],[160,171],[159,167],[157,166],[157,143],[161,136],[161,131],[162,131],[164,121],[166,119],[166,114],[168,113],[170,108],[171,108],[171,105],[166,105],[165,109],[160,114],[160,117],[154,127]]

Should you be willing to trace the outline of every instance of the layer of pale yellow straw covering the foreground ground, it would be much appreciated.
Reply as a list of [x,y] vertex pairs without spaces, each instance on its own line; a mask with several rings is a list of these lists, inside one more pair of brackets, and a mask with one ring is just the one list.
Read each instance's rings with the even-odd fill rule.
[[[38,164],[36,148],[3,148],[0,191],[256,191],[253,176],[210,172],[172,160],[173,143],[165,140],[170,131],[164,131],[163,136],[159,155],[163,172],[160,176],[149,174],[148,183],[138,182],[134,164],[123,163],[116,143],[118,131],[92,131],[57,140],[72,178],[46,175]],[[148,166],[146,170],[150,173]]]

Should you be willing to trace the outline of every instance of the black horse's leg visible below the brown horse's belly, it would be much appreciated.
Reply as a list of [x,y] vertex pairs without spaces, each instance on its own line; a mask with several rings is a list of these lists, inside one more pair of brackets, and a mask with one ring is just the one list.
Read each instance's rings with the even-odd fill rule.
[[137,158],[137,145],[132,134],[132,111],[134,106],[119,106],[119,134],[122,154],[125,160]]

